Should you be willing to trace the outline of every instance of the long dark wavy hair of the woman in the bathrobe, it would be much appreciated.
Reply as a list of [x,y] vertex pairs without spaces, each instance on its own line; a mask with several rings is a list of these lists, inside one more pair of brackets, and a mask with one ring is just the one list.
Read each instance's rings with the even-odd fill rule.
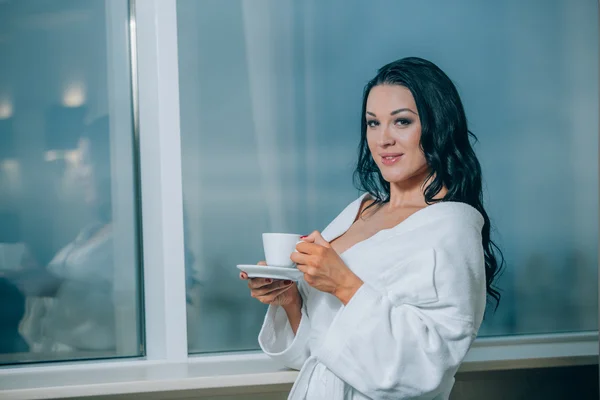
[[[390,200],[390,183],[375,164],[367,144],[367,98],[378,85],[400,85],[411,91],[421,120],[421,148],[429,166],[425,201],[457,201],[469,204],[481,213],[484,224],[482,245],[488,300],[498,308],[500,292],[494,283],[504,266],[502,251],[491,240],[491,223],[483,207],[481,166],[471,147],[477,141],[467,128],[467,117],[460,96],[450,78],[435,64],[417,57],[394,61],[382,67],[364,89],[358,162],[354,171],[357,188],[374,199],[370,206]],[[435,196],[446,187],[448,193]]]

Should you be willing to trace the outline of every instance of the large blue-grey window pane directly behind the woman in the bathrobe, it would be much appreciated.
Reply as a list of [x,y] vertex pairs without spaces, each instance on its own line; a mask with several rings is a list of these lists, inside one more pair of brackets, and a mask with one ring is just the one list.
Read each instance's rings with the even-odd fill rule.
[[264,307],[236,264],[264,258],[262,232],[321,230],[357,197],[362,88],[411,55],[455,79],[480,140],[508,262],[480,334],[597,329],[597,2],[177,6],[191,352],[258,348]]

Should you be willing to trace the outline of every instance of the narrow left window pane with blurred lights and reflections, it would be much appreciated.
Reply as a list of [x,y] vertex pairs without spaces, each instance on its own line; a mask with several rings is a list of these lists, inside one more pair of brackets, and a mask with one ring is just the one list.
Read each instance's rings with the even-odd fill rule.
[[0,2],[0,363],[141,355],[128,2]]

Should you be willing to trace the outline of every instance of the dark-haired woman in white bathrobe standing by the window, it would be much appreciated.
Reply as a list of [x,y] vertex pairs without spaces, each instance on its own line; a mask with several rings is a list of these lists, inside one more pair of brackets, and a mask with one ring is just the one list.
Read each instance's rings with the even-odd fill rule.
[[260,345],[301,370],[292,399],[447,399],[502,259],[437,66],[405,58],[367,84],[355,177],[366,193],[291,255],[303,281],[249,280],[270,305]]

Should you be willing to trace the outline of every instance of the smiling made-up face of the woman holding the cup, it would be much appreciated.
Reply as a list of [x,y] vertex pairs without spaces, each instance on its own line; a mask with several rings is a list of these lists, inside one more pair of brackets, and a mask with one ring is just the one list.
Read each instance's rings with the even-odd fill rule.
[[428,173],[421,150],[421,121],[410,90],[378,85],[367,98],[367,143],[383,178],[390,183],[424,179]]

